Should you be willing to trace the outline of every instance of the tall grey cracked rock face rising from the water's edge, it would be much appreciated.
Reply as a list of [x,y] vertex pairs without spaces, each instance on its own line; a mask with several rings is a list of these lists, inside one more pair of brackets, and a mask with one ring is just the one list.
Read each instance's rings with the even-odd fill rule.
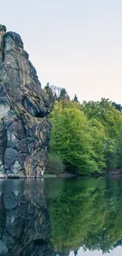
[[50,139],[49,102],[24,44],[4,35],[0,63],[0,176],[40,176]]

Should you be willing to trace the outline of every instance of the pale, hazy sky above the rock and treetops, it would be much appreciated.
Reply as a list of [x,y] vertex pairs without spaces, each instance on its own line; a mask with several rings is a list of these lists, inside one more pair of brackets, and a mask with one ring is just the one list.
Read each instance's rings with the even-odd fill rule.
[[121,0],[4,0],[0,24],[24,41],[42,87],[122,104]]

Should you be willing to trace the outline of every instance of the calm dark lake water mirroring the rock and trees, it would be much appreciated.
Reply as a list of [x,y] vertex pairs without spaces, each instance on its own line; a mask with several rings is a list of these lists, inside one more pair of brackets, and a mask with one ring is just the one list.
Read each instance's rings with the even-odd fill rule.
[[120,256],[121,179],[0,180],[0,255]]

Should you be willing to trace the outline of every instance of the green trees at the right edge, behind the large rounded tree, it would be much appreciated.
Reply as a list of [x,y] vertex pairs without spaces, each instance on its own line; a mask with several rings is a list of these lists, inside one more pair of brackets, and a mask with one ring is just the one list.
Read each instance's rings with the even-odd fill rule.
[[[115,105],[115,104],[114,104]],[[109,99],[101,102],[83,102],[83,109],[89,119],[94,118],[105,128],[105,164],[106,169],[121,169],[122,156],[122,116]]]

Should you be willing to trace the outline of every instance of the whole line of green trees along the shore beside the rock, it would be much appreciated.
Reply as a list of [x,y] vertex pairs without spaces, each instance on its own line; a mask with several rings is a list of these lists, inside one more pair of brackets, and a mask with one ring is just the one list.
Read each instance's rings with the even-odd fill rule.
[[122,169],[122,107],[105,98],[80,104],[76,95],[70,100],[65,88],[49,83],[44,90],[53,125],[50,158],[81,175]]

